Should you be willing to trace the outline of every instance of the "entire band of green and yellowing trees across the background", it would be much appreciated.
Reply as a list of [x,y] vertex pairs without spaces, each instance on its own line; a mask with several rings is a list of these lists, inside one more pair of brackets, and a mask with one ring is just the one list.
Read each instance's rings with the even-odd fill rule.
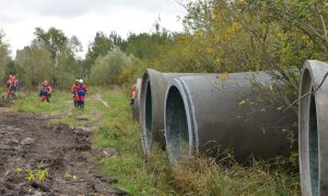
[[84,58],[77,56],[82,47],[75,36],[37,27],[32,44],[11,60],[1,33],[1,77],[15,72],[27,87],[44,78],[63,87],[75,77],[106,86],[131,83],[145,68],[212,73],[271,70],[288,86],[281,97],[290,97],[296,95],[306,59],[327,61],[325,0],[177,2],[187,11],[183,32],[169,32],[160,23],[152,33],[130,33],[126,39],[115,32],[98,32]]

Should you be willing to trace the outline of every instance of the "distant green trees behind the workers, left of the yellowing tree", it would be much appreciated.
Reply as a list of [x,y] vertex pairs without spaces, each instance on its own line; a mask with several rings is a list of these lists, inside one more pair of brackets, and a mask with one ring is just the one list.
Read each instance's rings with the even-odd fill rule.
[[[59,87],[70,84],[74,78],[92,78],[96,85],[105,86],[121,85],[127,79],[132,82],[129,79],[132,63],[140,64],[142,59],[149,59],[155,52],[151,51],[152,47],[143,51],[137,45],[148,41],[147,45],[150,46],[154,40],[159,41],[157,45],[172,42],[174,35],[178,34],[160,28],[156,23],[155,33],[129,33],[126,39],[115,30],[109,35],[96,32],[93,41],[89,44],[87,52],[81,58],[78,54],[82,51],[82,45],[77,36],[69,38],[62,29],[56,27],[35,27],[35,37],[31,45],[17,49],[14,59],[10,56],[10,44],[4,41],[5,33],[2,30],[0,66],[4,69],[0,71],[1,78],[5,81],[10,74],[15,74],[26,87],[38,85],[43,78]],[[97,68],[93,68],[95,63]]]

